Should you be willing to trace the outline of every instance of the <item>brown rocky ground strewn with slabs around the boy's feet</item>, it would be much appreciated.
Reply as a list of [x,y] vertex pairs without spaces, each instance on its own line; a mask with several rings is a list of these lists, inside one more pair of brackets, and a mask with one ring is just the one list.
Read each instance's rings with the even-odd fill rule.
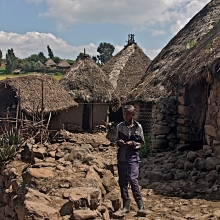
[[[64,132],[53,144],[30,140],[14,161],[1,166],[0,220],[123,218],[116,151],[104,132]],[[147,216],[136,216],[131,195],[131,212],[123,219],[220,219],[218,185],[202,178],[207,173],[193,176],[184,166],[187,155],[173,151],[142,159],[140,187]]]

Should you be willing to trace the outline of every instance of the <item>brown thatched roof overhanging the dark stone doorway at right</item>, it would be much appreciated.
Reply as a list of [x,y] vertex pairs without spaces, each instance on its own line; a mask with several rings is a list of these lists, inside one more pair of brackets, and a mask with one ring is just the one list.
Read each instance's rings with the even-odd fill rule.
[[[174,63],[173,71],[166,80],[167,88],[178,83],[195,84],[202,79],[210,82],[220,73],[220,22],[183,58]],[[181,74],[179,74],[181,73]]]

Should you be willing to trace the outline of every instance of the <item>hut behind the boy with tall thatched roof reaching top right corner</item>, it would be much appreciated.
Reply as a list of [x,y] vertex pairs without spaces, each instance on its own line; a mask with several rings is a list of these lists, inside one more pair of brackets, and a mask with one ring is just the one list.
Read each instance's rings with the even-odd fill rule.
[[[140,118],[139,120],[142,122],[146,132],[152,131],[153,125],[156,127],[152,131],[153,137],[162,137],[159,135],[166,137],[168,133],[170,134],[171,131],[175,130],[171,117],[175,115],[174,112],[177,101],[175,97],[173,97],[164,103],[164,99],[171,95],[171,90],[165,86],[164,82],[172,72],[172,65],[177,60],[181,62],[187,50],[206,36],[219,21],[218,14],[220,14],[220,1],[212,0],[162,49],[148,66],[145,75],[128,95],[127,102],[133,102],[137,106],[143,104],[149,106],[146,108],[146,112],[148,112],[147,114],[149,115],[148,121],[145,119],[141,120],[141,115],[138,115],[138,119]],[[166,114],[166,112],[169,113]],[[163,116],[163,114],[165,114],[165,116]],[[165,118],[166,122],[164,121]],[[157,120],[160,124],[157,124]],[[162,129],[163,132],[161,132]],[[171,137],[172,135],[168,138]],[[157,147],[157,144],[159,145],[158,147],[169,146],[169,142],[170,140],[166,138],[158,140],[157,143],[155,141],[155,147]]]

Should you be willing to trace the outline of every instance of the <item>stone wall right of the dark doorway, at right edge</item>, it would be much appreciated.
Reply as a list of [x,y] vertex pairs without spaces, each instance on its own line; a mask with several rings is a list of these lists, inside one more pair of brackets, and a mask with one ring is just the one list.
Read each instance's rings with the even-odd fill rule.
[[215,79],[208,98],[205,121],[206,145],[211,146],[216,155],[220,155],[220,81]]

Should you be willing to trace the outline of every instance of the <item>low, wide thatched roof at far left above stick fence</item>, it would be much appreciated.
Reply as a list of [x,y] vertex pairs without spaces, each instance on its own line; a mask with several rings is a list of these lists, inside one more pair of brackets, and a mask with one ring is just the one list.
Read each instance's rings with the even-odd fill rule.
[[3,88],[14,90],[16,96],[20,97],[21,110],[28,114],[41,112],[42,87],[45,113],[67,110],[78,105],[57,80],[47,75],[28,75],[0,81],[0,91]]

